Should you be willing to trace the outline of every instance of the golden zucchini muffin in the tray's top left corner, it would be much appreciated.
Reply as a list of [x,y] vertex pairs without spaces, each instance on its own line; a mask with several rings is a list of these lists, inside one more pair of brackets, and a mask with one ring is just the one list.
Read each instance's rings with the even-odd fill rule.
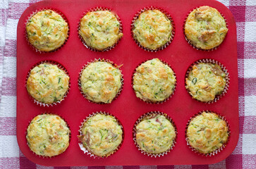
[[28,41],[39,51],[54,51],[68,38],[68,23],[51,10],[39,11],[26,25]]

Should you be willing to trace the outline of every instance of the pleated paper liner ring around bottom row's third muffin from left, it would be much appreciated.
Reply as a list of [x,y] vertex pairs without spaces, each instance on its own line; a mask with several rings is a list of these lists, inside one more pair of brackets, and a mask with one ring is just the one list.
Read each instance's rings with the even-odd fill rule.
[[[154,115],[164,115],[164,117],[166,119],[168,119],[171,124],[173,125],[174,129],[175,129],[175,134],[176,134],[176,137],[174,138],[173,140],[173,144],[171,145],[170,149],[168,149],[167,151],[164,151],[163,153],[161,154],[150,154],[150,153],[147,153],[146,151],[140,149],[140,146],[137,144],[136,142],[136,126],[144,119],[150,119],[150,118],[154,118]],[[157,157],[161,157],[161,156],[164,156],[166,154],[168,154],[172,149],[173,147],[175,146],[176,144],[176,140],[177,140],[177,135],[178,135],[178,132],[177,132],[177,127],[175,125],[175,123],[173,122],[173,120],[169,117],[169,115],[167,115],[166,113],[162,113],[160,111],[150,111],[148,113],[145,113],[143,115],[140,116],[140,118],[138,118],[138,120],[135,122],[135,125],[133,127],[133,141],[134,141],[134,144],[135,146],[138,148],[138,150],[146,155],[146,156],[150,156],[150,157],[154,157],[154,158],[157,158]]]

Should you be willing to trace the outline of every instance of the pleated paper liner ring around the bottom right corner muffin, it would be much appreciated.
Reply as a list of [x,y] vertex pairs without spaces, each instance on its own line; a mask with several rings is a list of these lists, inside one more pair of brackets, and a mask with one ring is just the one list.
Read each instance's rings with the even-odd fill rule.
[[[221,118],[222,120],[224,120],[226,122],[226,126],[228,127],[228,139],[226,140],[226,143],[222,144],[221,147],[219,147],[219,149],[215,150],[215,151],[212,151],[211,153],[209,154],[202,154],[200,153],[199,151],[197,151],[193,146],[191,146],[188,142],[188,137],[187,137],[187,130],[188,130],[188,125],[190,124],[191,120],[193,120],[193,118],[195,118],[197,115],[200,115],[202,114],[203,112],[206,112],[206,113],[215,113],[219,116],[219,118]],[[190,120],[188,120],[188,123],[185,127],[185,141],[187,142],[187,145],[188,147],[195,152],[195,154],[198,154],[200,156],[214,156],[216,154],[218,154],[219,152],[221,152],[225,147],[226,145],[228,144],[229,142],[229,139],[230,139],[230,134],[231,134],[231,131],[230,131],[230,126],[228,124],[228,121],[226,120],[226,118],[224,118],[224,116],[220,115],[219,113],[216,113],[214,111],[200,111],[199,113],[196,113],[195,115],[193,115],[193,117],[190,118]]]

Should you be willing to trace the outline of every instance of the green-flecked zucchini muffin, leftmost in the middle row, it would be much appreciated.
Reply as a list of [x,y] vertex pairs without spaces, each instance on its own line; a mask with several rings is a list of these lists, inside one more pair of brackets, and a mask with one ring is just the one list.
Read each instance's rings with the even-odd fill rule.
[[43,104],[63,100],[69,89],[68,75],[57,65],[42,63],[30,71],[28,94]]

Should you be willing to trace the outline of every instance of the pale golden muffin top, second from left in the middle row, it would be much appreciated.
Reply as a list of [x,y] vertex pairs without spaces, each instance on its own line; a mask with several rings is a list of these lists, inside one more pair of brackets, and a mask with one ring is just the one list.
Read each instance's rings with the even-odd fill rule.
[[87,99],[109,104],[121,88],[121,71],[111,63],[96,61],[83,70],[80,82]]

